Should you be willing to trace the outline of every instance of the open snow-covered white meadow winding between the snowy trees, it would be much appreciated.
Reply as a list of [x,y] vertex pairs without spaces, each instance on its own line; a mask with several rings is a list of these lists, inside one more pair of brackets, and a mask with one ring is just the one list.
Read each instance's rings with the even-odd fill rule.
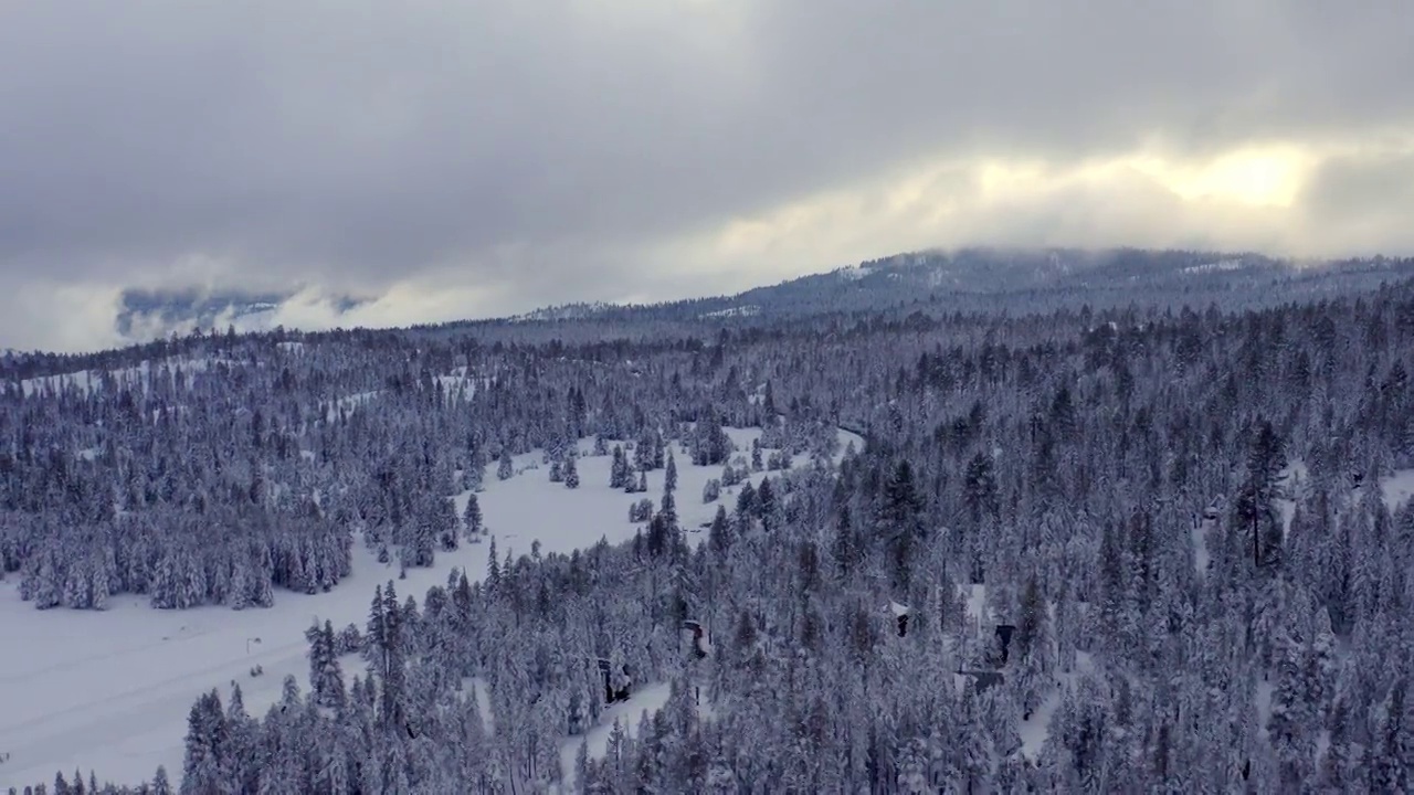
[[[728,433],[741,450],[749,450],[759,436],[759,430]],[[863,447],[857,436],[840,434],[841,451],[851,440]],[[591,444],[581,447],[588,451]],[[539,460],[536,451],[515,464],[519,470]],[[693,529],[717,511],[717,504],[703,505],[701,489],[708,478],[720,477],[721,467],[694,467],[677,454],[677,471],[680,522]],[[622,542],[639,528],[628,522],[628,506],[641,495],[608,488],[608,457],[580,461],[578,489],[551,484],[546,468],[498,481],[495,468],[488,467],[486,475],[478,499],[502,556],[508,550],[529,553],[534,540],[546,553],[587,547],[600,538]],[[662,492],[662,470],[649,472],[649,497]],[[759,482],[761,475],[752,480]],[[723,489],[718,502],[734,505],[734,492]],[[458,515],[465,501],[465,494],[457,498]],[[689,538],[700,542],[703,533]],[[438,552],[436,566],[409,570],[406,580],[397,580],[395,566],[378,563],[356,542],[352,574],[332,591],[277,591],[274,607],[239,613],[221,607],[151,610],[129,596],[112,598],[103,613],[38,611],[20,601],[16,577],[0,581],[6,649],[0,655],[0,757],[8,754],[0,764],[0,791],[52,781],[59,770],[93,770],[99,779],[137,782],[165,765],[175,777],[187,714],[197,696],[216,687],[225,699],[230,683],[239,682],[247,710],[263,714],[279,700],[286,675],[307,686],[304,629],[314,620],[362,627],[373,586],[390,579],[397,580],[399,594],[419,601],[427,588],[444,584],[454,566],[477,580],[486,570],[489,546],[464,543],[457,552]],[[253,678],[250,669],[257,665],[264,673]]]

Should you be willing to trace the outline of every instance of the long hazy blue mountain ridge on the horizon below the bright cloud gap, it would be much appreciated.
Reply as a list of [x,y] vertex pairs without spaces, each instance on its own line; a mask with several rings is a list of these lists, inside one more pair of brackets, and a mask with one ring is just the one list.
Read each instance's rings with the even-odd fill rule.
[[[880,311],[928,304],[953,310],[1093,308],[1130,303],[1206,307],[1281,303],[1370,289],[1414,276],[1414,259],[1294,262],[1258,253],[1147,249],[926,250],[867,260],[734,296],[659,304],[567,304],[516,318],[564,324],[755,325],[779,317]],[[1260,287],[1261,290],[1253,290]],[[452,327],[498,324],[488,320]]]

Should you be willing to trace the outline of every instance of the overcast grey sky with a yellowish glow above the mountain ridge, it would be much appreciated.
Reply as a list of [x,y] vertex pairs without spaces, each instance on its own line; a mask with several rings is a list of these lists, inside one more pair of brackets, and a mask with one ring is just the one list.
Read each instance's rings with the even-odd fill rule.
[[0,347],[117,342],[129,286],[378,325],[929,246],[1411,253],[1410,31],[1407,0],[0,3]]

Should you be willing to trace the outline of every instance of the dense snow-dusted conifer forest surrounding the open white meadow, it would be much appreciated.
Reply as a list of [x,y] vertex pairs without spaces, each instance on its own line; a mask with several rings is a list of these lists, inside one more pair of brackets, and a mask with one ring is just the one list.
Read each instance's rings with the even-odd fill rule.
[[[10,356],[0,569],[41,610],[370,600],[263,717],[212,690],[181,775],[103,792],[1407,791],[1414,283],[1171,290]],[[482,543],[492,481],[645,472],[628,543],[399,584]]]

